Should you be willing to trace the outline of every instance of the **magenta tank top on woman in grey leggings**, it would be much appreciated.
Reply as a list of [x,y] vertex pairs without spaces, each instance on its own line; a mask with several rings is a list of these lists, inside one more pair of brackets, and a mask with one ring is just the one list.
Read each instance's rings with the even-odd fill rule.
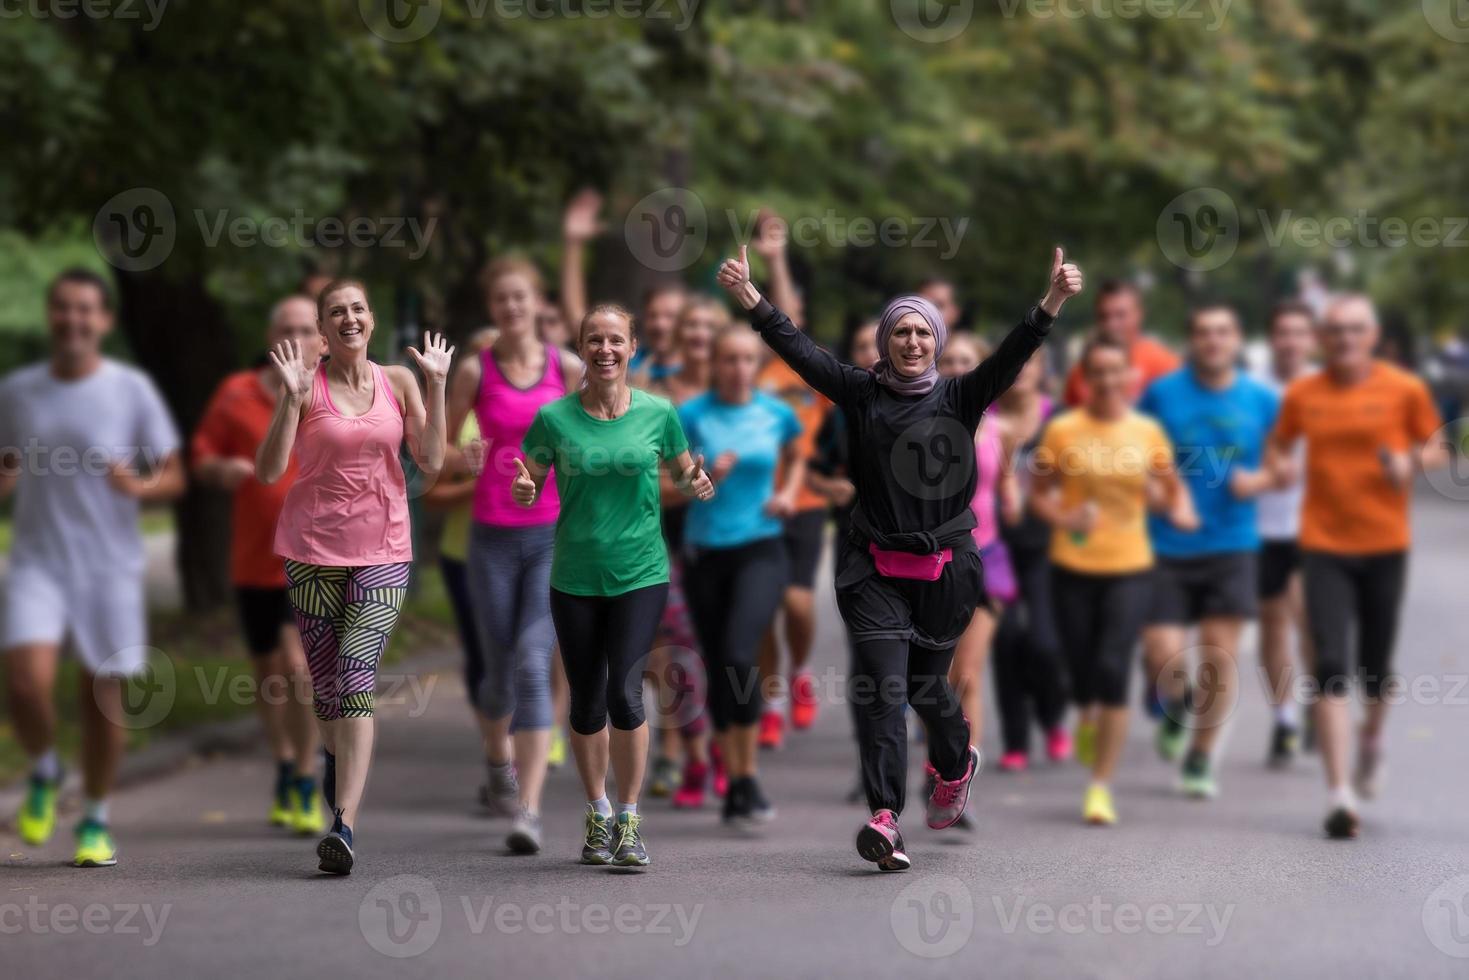
[[479,364],[474,417],[479,420],[479,438],[485,439],[486,454],[485,470],[474,485],[474,520],[495,527],[554,525],[561,513],[561,498],[551,476],[530,507],[514,501],[510,483],[516,478],[516,460],[521,455],[520,444],[535,422],[536,411],[566,394],[561,356],[554,347],[546,347],[546,369],[541,381],[529,388],[511,385],[488,347],[479,353]]

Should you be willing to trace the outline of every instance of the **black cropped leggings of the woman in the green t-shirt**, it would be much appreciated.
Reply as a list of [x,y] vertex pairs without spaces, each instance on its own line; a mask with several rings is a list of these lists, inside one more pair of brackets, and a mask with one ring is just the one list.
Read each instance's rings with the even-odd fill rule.
[[660,582],[621,595],[571,595],[551,589],[551,619],[571,692],[571,730],[632,732],[643,723],[642,676],[668,599]]

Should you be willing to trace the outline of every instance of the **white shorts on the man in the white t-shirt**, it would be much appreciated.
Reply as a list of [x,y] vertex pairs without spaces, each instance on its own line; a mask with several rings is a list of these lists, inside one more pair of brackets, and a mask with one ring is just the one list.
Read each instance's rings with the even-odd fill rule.
[[88,673],[128,677],[148,661],[142,576],[66,576],[12,566],[4,583],[0,648],[62,644]]

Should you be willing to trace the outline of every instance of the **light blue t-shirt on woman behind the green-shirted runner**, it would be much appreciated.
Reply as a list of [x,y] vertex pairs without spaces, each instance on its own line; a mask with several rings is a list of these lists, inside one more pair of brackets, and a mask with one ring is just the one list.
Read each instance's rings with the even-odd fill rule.
[[705,392],[683,403],[679,420],[689,451],[704,454],[707,470],[714,469],[721,453],[736,457],[714,500],[689,502],[685,541],[696,548],[737,548],[780,535],[780,519],[767,514],[765,504],[776,492],[782,448],[801,435],[796,413],[762,391],[742,406]]

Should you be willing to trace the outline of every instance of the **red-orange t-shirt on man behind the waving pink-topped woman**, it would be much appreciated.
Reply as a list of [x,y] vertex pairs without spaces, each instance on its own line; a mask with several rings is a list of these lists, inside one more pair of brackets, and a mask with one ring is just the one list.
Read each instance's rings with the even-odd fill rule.
[[[212,457],[254,460],[275,414],[275,401],[254,370],[231,375],[214,391],[194,432],[194,461]],[[275,483],[247,478],[235,491],[229,579],[256,589],[284,589],[285,563],[275,552],[281,504],[295,482],[295,455]]]

